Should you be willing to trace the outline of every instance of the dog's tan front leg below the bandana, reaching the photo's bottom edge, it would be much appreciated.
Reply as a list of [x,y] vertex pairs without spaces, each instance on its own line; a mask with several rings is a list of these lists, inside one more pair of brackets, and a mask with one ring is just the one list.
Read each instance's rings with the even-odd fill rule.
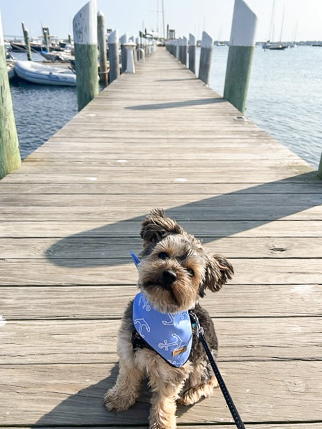
[[149,416],[150,429],[176,428],[176,399],[185,378],[185,372],[181,373],[178,370],[170,370],[165,378],[160,375],[154,377],[150,375],[153,391]]

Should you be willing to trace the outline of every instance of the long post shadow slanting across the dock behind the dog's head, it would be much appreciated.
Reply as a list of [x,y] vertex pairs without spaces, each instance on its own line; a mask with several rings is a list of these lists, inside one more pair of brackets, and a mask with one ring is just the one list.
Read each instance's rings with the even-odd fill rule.
[[[317,178],[316,172],[312,171],[285,180],[269,182],[228,194],[192,201],[191,203],[169,208],[166,213],[167,216],[181,223],[187,229],[187,232],[196,235],[206,244],[321,205],[321,194],[292,194],[287,191],[296,183],[300,183],[300,186],[304,187],[305,182],[309,182],[310,187],[312,187],[312,182],[316,182],[316,185],[321,185],[321,180]],[[281,193],[281,188],[285,188],[284,193]],[[155,207],[158,206],[158,198],[155,198]],[[115,242],[119,237],[124,239],[125,233],[120,231],[127,231],[126,224],[129,221],[137,222],[137,234],[135,237],[139,238],[139,222],[145,216],[146,214],[142,214],[141,216],[124,219],[114,224],[93,228],[92,230],[63,238],[47,249],[47,259],[55,265],[73,268],[119,265],[120,256],[117,255],[117,250],[111,249],[112,254],[115,254],[115,256],[109,258],[101,255],[107,252],[107,247],[112,248],[115,246]],[[208,221],[218,221],[219,228],[221,227],[220,221],[231,221],[229,223],[229,232],[223,233],[222,230],[213,228],[209,233],[201,234],[199,231],[194,231],[193,228],[189,227],[189,224],[193,222],[206,223]],[[105,240],[102,240],[103,237],[105,237]],[[84,238],[88,240],[84,240]],[[77,239],[79,240],[77,241]],[[108,239],[110,239],[111,244],[107,241]],[[129,234],[128,251],[139,250],[140,247],[135,249],[130,244],[131,239],[133,239],[133,235]],[[95,257],[94,255],[97,256]],[[130,255],[128,258],[123,257],[121,263],[132,263]]]

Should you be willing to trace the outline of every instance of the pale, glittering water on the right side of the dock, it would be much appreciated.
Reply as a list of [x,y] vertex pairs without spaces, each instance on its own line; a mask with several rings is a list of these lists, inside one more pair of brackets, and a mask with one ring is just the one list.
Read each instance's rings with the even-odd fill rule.
[[[209,85],[221,95],[228,49],[213,50]],[[321,111],[322,47],[256,47],[245,116],[315,168],[322,151]]]

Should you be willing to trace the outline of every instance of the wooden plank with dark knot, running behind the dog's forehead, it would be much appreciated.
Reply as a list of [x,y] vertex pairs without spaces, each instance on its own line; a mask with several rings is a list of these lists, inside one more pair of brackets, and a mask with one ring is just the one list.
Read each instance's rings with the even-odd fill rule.
[[[210,254],[227,258],[322,258],[322,237],[207,237]],[[140,251],[139,237],[0,238],[1,258],[128,258]],[[240,255],[240,249],[243,254]],[[18,253],[19,252],[19,253]]]

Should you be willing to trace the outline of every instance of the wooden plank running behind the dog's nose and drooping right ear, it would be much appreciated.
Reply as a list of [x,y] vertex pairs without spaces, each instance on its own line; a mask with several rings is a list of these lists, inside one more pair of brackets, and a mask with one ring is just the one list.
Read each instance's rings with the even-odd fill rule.
[[[316,284],[321,281],[321,260],[229,258],[235,270],[230,284]],[[137,270],[125,259],[8,259],[0,260],[0,285],[72,286],[132,285]]]

